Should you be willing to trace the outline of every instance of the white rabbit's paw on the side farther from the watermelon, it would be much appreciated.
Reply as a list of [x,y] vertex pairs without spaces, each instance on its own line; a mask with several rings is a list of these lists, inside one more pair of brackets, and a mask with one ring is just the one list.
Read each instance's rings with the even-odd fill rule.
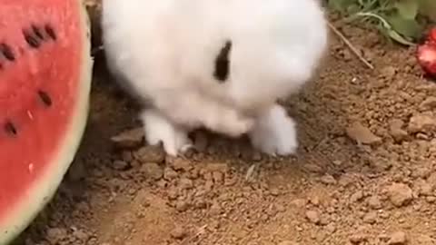
[[298,147],[296,123],[280,105],[259,117],[249,136],[254,147],[270,155],[290,155]]

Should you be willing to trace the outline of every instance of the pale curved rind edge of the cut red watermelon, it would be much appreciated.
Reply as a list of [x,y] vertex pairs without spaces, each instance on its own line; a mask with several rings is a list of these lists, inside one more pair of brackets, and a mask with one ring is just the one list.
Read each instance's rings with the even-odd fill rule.
[[84,135],[84,129],[88,119],[89,101],[91,93],[91,81],[94,60],[91,56],[91,25],[89,16],[81,0],[77,0],[80,9],[81,26],[83,32],[83,61],[81,63],[81,80],[77,90],[77,104],[72,115],[72,122],[68,126],[64,142],[61,143],[60,151],[54,156],[53,162],[48,164],[45,175],[41,176],[33,187],[25,194],[23,199],[18,202],[13,211],[6,216],[5,220],[0,220],[0,245],[12,242],[25,230],[28,225],[35,220],[37,214],[42,211],[47,203],[54,197],[64,175],[79,148]]

